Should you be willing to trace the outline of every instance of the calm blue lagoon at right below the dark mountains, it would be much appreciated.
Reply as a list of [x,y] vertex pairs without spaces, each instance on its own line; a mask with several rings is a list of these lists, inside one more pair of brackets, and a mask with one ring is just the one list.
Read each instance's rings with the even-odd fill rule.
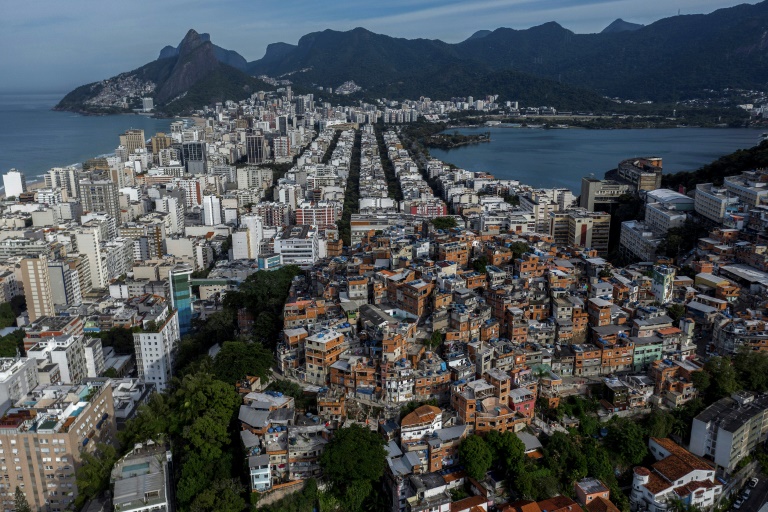
[[520,180],[535,187],[567,187],[578,194],[581,178],[602,178],[624,159],[662,158],[664,173],[692,171],[717,158],[758,143],[757,129],[667,128],[586,130],[579,128],[480,127],[448,130],[464,134],[491,132],[491,142],[430,154],[469,171],[498,179]]

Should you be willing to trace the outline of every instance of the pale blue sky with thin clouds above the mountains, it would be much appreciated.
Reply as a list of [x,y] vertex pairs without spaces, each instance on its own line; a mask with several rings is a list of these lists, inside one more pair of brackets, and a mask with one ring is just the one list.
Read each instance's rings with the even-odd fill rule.
[[[393,37],[463,41],[477,30],[556,21],[599,32],[616,18],[649,24],[734,0],[12,0],[0,1],[0,93],[67,92],[157,58],[190,28],[248,61],[274,42],[364,27]],[[756,3],[750,0],[748,3]]]

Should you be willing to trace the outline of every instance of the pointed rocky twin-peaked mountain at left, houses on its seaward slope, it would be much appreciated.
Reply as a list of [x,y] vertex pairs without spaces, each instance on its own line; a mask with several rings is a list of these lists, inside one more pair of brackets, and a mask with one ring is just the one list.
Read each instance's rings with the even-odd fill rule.
[[[238,64],[239,59],[245,62],[239,54],[217,48],[208,34],[190,30],[177,47],[163,48],[158,60],[110,79],[80,86],[67,94],[55,109],[115,113],[141,108],[141,98],[152,97],[156,111],[175,114],[273,89],[230,65]],[[244,66],[241,63],[238,67]],[[125,97],[129,98],[128,105],[122,103]]]

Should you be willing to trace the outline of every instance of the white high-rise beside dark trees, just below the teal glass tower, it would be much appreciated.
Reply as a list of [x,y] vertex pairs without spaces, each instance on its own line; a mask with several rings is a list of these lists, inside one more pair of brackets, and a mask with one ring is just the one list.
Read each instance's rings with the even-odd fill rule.
[[142,331],[133,334],[139,378],[154,384],[158,392],[170,384],[179,339],[178,312],[167,304],[148,312]]

